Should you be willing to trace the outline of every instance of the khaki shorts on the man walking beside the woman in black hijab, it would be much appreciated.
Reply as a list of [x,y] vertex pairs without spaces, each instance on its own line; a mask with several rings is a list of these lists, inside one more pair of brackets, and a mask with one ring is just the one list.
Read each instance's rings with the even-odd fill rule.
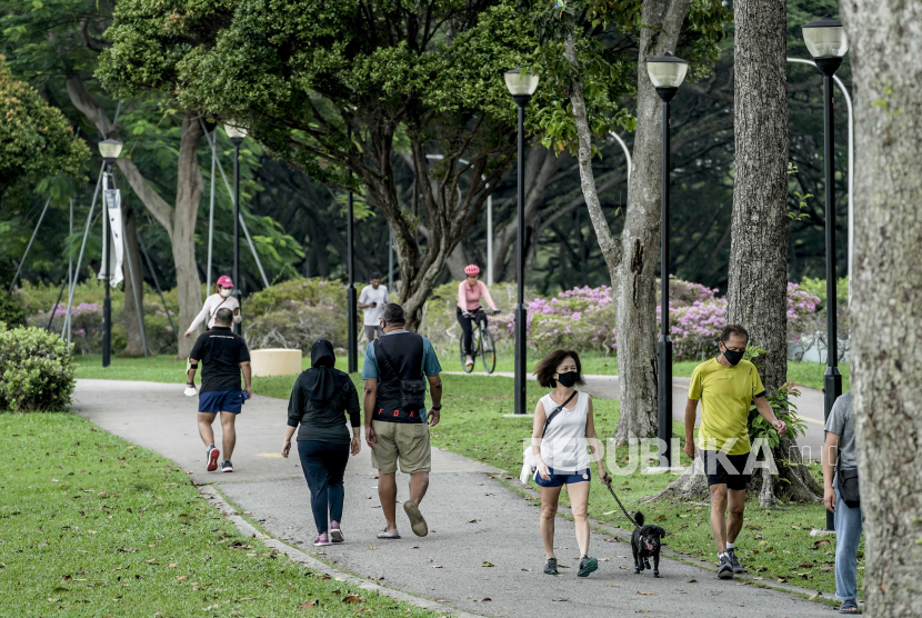
[[398,460],[404,475],[432,469],[429,423],[372,420],[371,428],[378,436],[378,443],[371,449],[371,465],[382,475],[394,474]]

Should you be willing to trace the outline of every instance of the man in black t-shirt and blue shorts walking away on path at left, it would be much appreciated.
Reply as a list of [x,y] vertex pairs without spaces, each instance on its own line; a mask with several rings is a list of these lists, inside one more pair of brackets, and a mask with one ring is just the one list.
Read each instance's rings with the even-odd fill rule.
[[[224,460],[221,462],[222,472],[232,472],[230,461],[233,447],[237,443],[234,419],[240,413],[243,401],[250,398],[250,350],[242,337],[231,330],[233,313],[230,309],[218,309],[214,313],[214,327],[196,339],[192,351],[189,352],[189,371],[186,375],[186,387],[194,388],[196,370],[199,361],[204,362],[202,368],[202,388],[199,391],[199,435],[208,447],[208,471],[218,468],[220,451],[214,446],[214,432],[211,423],[221,412],[222,441],[224,443]],[[243,390],[240,390],[240,372],[243,372]]]

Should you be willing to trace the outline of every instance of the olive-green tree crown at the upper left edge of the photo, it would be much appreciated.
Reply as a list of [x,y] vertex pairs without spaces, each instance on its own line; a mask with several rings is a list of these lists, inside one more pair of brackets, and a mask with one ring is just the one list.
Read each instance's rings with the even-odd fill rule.
[[0,56],[0,193],[12,182],[81,176],[90,151],[64,116],[17,81]]

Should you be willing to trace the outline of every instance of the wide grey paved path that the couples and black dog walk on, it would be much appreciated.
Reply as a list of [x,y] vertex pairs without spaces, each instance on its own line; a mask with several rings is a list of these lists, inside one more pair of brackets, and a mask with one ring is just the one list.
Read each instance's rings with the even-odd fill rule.
[[[238,419],[237,471],[223,475],[204,471],[196,400],[182,395],[181,385],[78,380],[73,403],[74,412],[192,470],[194,482],[213,484],[270,534],[310,551],[315,530],[307,485],[298,460],[278,456],[285,408],[287,401],[261,396],[247,402]],[[374,534],[383,518],[368,451],[363,448],[347,468],[347,542],[318,554],[338,568],[383,586],[482,616],[831,615],[826,606],[740,580],[721,581],[712,571],[670,559],[660,566],[662,579],[649,572],[635,576],[630,547],[598,531],[592,532],[591,548],[601,560],[600,569],[577,579],[573,525],[563,518],[558,519],[558,557],[570,568],[561,569],[561,577],[544,576],[538,508],[495,480],[491,474],[497,470],[440,449],[432,452],[430,491],[422,504],[431,534],[412,536],[399,511],[403,539],[379,540]],[[399,499],[407,496],[405,479],[401,475]]]

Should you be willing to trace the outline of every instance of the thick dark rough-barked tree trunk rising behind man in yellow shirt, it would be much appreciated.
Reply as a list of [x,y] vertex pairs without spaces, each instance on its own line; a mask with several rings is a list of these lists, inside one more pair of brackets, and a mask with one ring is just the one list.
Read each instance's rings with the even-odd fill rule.
[[733,4],[736,138],[726,320],[765,350],[769,392],[788,380],[788,63],[785,0]]

